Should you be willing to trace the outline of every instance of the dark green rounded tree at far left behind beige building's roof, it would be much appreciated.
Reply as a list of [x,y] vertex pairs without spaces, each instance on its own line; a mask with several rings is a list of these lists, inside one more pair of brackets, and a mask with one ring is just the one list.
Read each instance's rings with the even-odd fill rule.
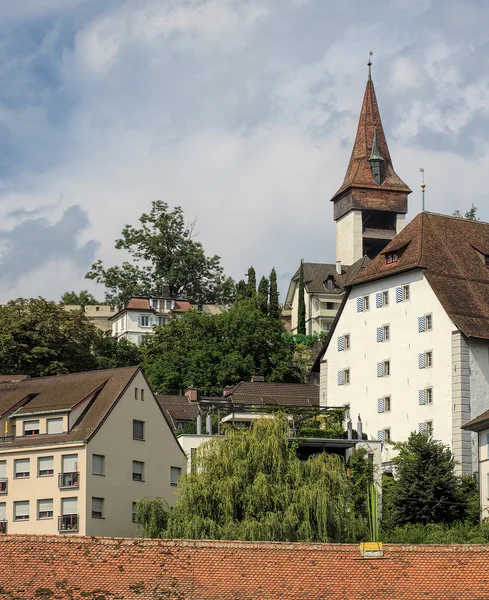
[[96,329],[81,310],[44,298],[0,306],[0,373],[31,377],[94,368]]

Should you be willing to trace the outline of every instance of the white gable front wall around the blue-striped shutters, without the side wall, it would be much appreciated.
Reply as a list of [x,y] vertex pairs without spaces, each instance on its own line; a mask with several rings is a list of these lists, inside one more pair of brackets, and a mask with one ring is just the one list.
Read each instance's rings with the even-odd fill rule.
[[[396,302],[396,287],[409,284],[410,299]],[[376,307],[376,292],[388,291],[389,305]],[[357,312],[357,298],[368,295],[370,309]],[[430,313],[433,330],[418,332],[418,317]],[[390,326],[390,339],[377,342],[377,328]],[[349,405],[351,414],[361,414],[363,430],[370,438],[390,429],[391,439],[404,441],[426,421],[433,435],[452,443],[451,335],[455,329],[421,271],[411,271],[352,289],[323,357],[327,368],[327,406]],[[338,336],[350,334],[351,348],[339,351]],[[433,366],[419,368],[419,354],[433,352]],[[377,365],[390,361],[390,375],[377,376]],[[327,367],[324,364],[327,361]],[[338,371],[350,369],[350,384],[338,385]],[[433,389],[433,403],[419,404],[419,391]],[[378,412],[378,399],[391,398],[390,412]],[[354,420],[354,419],[353,419]]]

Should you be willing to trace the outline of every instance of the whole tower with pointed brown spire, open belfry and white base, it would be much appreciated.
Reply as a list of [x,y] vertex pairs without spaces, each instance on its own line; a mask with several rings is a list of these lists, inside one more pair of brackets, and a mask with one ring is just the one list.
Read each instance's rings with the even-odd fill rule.
[[343,185],[331,199],[336,260],[345,265],[374,258],[403,229],[408,186],[394,171],[368,63],[357,136]]

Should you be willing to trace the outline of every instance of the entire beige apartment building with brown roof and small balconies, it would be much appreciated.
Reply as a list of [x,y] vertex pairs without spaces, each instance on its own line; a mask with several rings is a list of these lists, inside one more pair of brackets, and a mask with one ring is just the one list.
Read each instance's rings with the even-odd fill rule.
[[0,532],[137,535],[186,457],[138,367],[0,383]]

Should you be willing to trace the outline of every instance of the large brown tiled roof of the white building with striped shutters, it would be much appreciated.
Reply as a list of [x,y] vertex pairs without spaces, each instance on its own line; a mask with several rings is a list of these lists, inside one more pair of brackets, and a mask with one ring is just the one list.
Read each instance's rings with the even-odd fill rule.
[[[385,255],[396,252],[387,265]],[[422,269],[455,326],[489,339],[489,223],[422,212],[353,280],[352,285]]]

